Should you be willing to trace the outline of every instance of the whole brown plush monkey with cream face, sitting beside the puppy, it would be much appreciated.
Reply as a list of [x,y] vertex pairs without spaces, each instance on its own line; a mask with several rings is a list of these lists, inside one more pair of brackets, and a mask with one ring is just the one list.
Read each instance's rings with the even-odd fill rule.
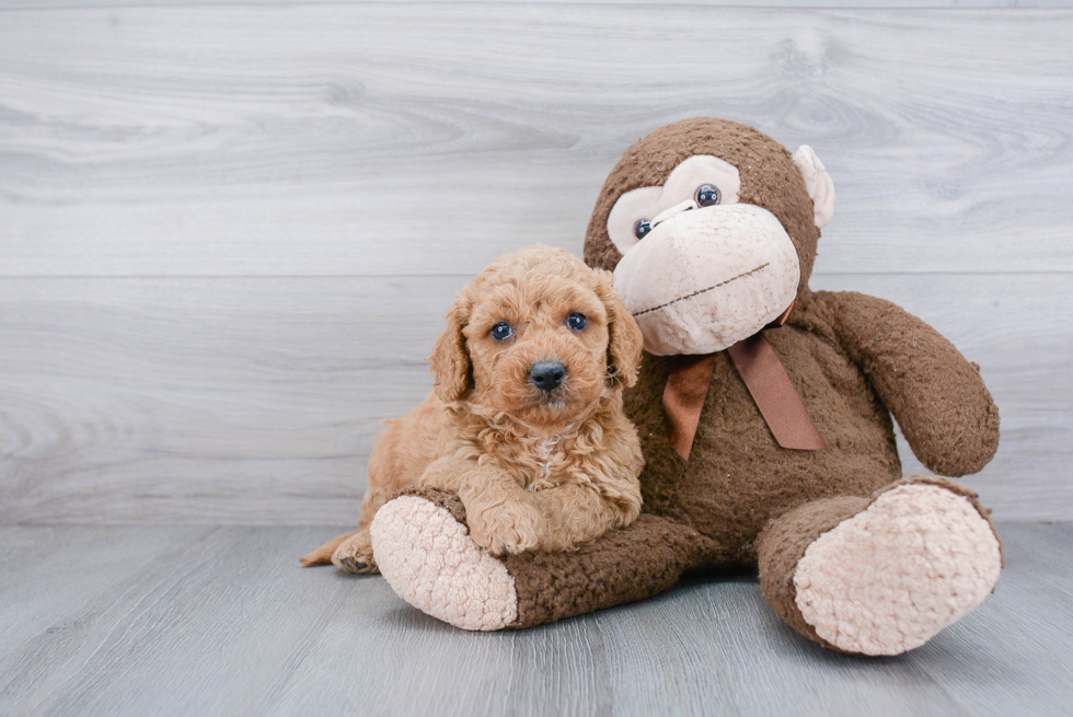
[[690,568],[757,566],[787,624],[865,655],[923,645],[979,605],[1002,565],[989,511],[946,478],[902,478],[891,415],[927,467],[960,476],[994,455],[997,409],[922,321],[809,289],[833,201],[811,149],[792,157],[736,123],[684,120],[631,147],[585,258],[615,271],[645,334],[626,395],[642,517],[576,553],[498,560],[466,544],[455,498],[407,496],[429,504],[420,524],[392,504],[373,523],[378,554],[405,548],[381,566],[395,591],[498,629],[643,599]]

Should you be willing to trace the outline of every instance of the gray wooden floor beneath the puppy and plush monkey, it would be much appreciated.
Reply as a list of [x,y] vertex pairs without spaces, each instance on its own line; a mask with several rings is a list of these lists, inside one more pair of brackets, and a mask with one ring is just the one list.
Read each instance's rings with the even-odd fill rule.
[[824,651],[752,576],[470,634],[379,577],[307,569],[311,528],[0,528],[4,715],[1061,715],[1073,525],[1004,524],[994,595],[899,658]]

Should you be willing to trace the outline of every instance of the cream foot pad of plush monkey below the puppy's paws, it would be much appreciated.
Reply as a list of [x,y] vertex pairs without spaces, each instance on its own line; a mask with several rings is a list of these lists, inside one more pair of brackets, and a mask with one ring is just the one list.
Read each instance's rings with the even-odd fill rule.
[[416,496],[385,504],[372,550],[395,593],[462,629],[501,629],[518,616],[515,579],[446,508]]

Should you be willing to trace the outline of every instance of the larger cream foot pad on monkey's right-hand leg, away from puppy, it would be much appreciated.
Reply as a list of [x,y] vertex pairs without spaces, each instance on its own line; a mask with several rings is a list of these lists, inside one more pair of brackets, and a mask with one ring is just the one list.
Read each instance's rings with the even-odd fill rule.
[[903,485],[820,535],[797,565],[797,608],[847,652],[920,647],[991,594],[1002,557],[968,499]]

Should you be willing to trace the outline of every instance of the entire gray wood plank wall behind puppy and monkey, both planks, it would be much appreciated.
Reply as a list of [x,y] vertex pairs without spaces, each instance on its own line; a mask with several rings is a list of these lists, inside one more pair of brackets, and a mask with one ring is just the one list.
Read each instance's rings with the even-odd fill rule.
[[452,294],[526,244],[580,251],[622,151],[694,115],[817,150],[814,287],[980,362],[1003,441],[967,483],[1073,518],[1073,11],[23,4],[0,522],[350,522]]

